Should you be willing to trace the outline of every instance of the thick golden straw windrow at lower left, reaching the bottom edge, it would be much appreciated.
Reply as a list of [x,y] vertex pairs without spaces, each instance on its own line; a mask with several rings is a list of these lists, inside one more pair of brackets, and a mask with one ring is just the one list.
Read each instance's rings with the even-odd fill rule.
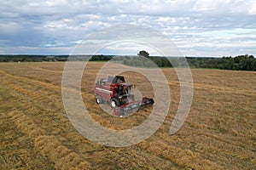
[[22,133],[26,133],[30,138],[34,139],[34,147],[39,150],[43,156],[55,162],[57,169],[69,169],[75,167],[78,169],[89,169],[90,163],[84,161],[83,156],[69,150],[61,144],[55,136],[46,135],[44,129],[38,127],[32,119],[23,114],[21,111],[12,111],[8,113],[12,117],[12,121],[20,129]]

